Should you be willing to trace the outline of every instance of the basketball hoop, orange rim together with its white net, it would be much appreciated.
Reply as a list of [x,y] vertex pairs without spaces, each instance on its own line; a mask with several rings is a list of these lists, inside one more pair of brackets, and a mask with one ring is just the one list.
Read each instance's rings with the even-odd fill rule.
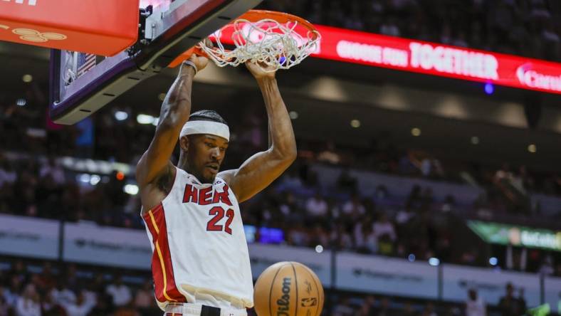
[[[219,67],[238,66],[250,60],[266,72],[288,69],[298,65],[310,53],[317,51],[321,36],[312,23],[283,12],[250,10],[216,31],[211,39],[214,47],[204,42],[182,55],[192,53],[208,56]],[[234,49],[224,47],[233,44]],[[170,66],[177,65],[177,61]]]

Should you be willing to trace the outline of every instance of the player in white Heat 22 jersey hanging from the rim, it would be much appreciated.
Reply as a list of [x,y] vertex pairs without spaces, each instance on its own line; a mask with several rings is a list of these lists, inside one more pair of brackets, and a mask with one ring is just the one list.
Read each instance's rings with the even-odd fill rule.
[[[190,114],[193,78],[208,61],[192,56],[184,62],[162,104],[150,147],[137,164],[154,291],[165,315],[247,315],[253,282],[238,203],[265,189],[296,157],[275,73],[246,63],[263,94],[271,147],[238,169],[219,172],[229,127],[214,111]],[[181,153],[174,166],[169,159],[177,139]]]

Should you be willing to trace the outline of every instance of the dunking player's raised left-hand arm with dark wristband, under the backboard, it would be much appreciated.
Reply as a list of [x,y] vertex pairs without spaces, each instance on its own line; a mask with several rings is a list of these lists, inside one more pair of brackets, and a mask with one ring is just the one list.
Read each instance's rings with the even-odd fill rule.
[[141,189],[173,170],[169,157],[177,144],[179,132],[189,119],[195,68],[201,70],[208,63],[207,58],[194,55],[189,61],[194,66],[184,63],[179,69],[177,78],[162,103],[154,138],[137,164],[136,179]]

